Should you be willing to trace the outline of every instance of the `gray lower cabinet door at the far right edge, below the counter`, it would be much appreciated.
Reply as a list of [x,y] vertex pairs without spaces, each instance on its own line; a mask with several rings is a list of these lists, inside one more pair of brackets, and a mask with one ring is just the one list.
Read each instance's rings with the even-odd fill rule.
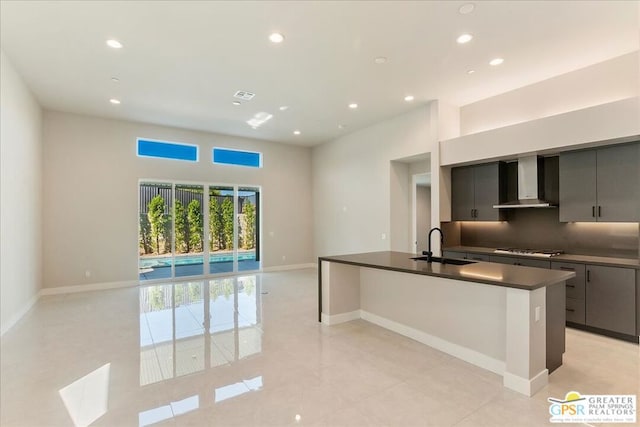
[[586,324],[636,335],[636,272],[587,266]]

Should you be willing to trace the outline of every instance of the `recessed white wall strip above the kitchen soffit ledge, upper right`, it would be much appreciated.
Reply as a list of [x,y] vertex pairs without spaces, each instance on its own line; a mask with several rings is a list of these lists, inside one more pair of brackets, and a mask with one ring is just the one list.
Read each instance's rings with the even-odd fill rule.
[[[638,51],[460,108],[461,134],[638,96]],[[451,135],[443,139],[450,139]]]

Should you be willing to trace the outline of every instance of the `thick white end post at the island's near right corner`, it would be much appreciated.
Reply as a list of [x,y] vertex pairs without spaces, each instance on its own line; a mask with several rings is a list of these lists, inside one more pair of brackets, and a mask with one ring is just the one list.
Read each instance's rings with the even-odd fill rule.
[[505,387],[533,396],[549,380],[546,368],[546,288],[507,290]]

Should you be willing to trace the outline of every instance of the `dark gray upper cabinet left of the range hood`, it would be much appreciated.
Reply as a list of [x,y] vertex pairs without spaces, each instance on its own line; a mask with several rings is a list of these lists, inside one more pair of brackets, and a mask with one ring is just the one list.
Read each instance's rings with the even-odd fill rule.
[[451,219],[453,221],[501,221],[504,213],[494,209],[504,201],[505,164],[464,166],[451,170]]

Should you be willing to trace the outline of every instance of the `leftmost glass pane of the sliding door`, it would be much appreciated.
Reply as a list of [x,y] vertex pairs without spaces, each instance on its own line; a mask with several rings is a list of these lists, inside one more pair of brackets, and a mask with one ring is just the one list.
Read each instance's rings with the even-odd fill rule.
[[171,184],[141,183],[139,192],[140,280],[171,277],[173,192]]

